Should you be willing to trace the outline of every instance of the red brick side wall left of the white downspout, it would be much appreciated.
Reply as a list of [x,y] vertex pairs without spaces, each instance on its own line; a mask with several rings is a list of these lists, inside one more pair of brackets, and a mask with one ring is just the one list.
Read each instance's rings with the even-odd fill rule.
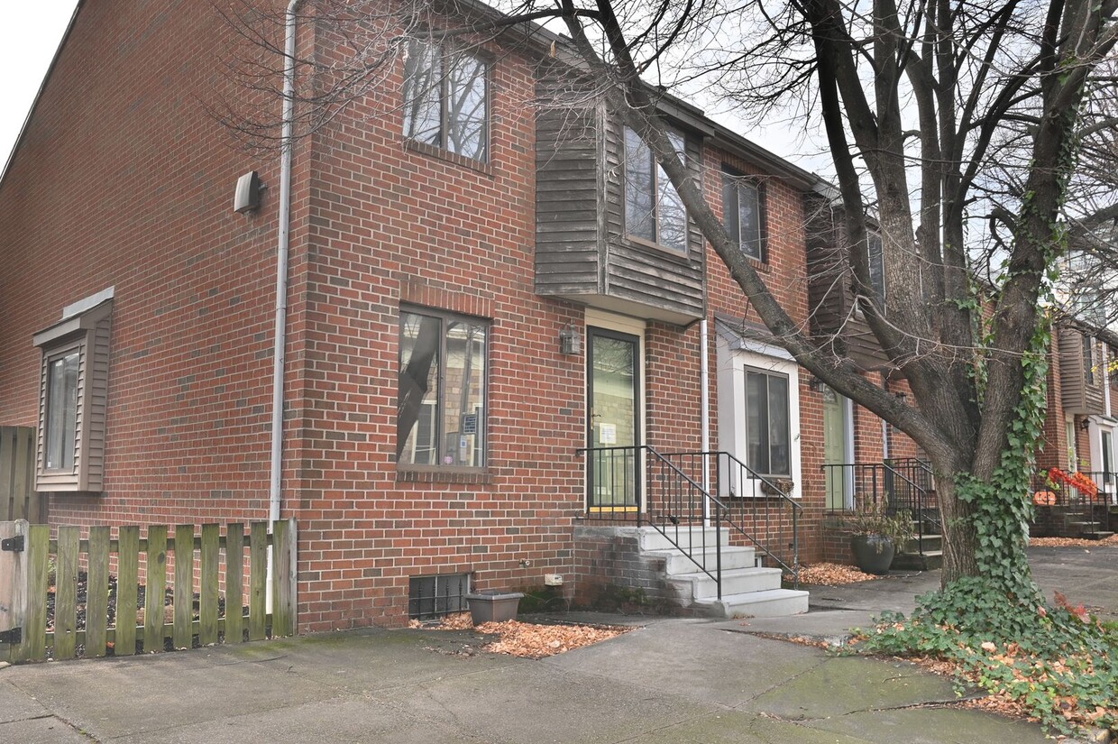
[[[230,41],[212,12],[84,3],[0,185],[0,424],[38,423],[31,333],[115,286],[106,495],[53,497],[56,522],[267,515],[276,159],[205,111]],[[234,214],[254,168],[273,188]]]

